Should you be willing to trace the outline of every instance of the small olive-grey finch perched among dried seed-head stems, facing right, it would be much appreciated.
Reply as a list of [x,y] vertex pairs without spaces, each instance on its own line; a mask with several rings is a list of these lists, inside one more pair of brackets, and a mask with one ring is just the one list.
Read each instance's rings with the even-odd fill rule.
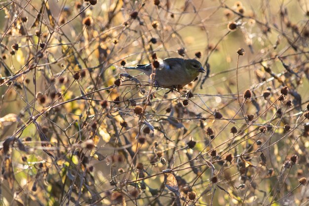
[[[124,69],[135,69],[144,72],[149,77],[153,73],[152,64],[139,64],[135,67],[123,67]],[[166,58],[159,62],[155,69],[155,84],[157,86],[175,87],[185,86],[192,82],[199,73],[204,73],[201,63],[195,59]]]

